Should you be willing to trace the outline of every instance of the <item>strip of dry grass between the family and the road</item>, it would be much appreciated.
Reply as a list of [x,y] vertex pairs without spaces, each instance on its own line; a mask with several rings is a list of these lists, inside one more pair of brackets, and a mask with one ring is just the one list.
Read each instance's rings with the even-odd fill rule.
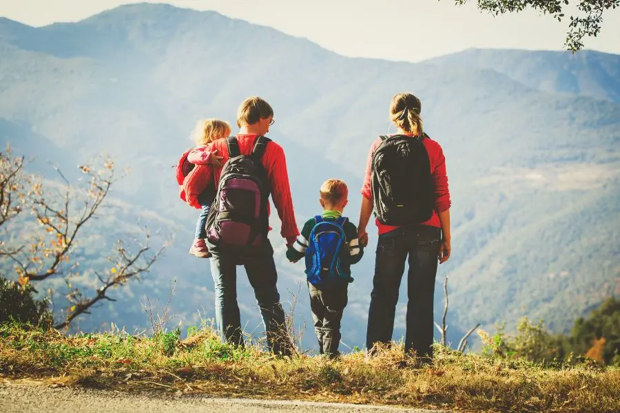
[[0,326],[0,376],[116,390],[302,399],[511,412],[618,412],[620,370],[586,363],[539,366],[437,347],[433,366],[418,367],[402,346],[329,361],[278,358],[256,347],[231,348],[208,328],[185,341],[85,335]]

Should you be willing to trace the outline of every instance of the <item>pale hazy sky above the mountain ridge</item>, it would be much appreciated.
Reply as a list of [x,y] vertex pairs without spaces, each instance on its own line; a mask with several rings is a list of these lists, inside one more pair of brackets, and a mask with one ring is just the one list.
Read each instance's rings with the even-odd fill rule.
[[[347,56],[420,61],[468,47],[559,50],[568,28],[549,16],[525,12],[481,14],[475,0],[172,0],[196,10],[216,10],[302,36]],[[0,16],[29,25],[78,21],[123,0],[0,0]],[[620,9],[606,15],[597,39],[586,48],[620,54]]]

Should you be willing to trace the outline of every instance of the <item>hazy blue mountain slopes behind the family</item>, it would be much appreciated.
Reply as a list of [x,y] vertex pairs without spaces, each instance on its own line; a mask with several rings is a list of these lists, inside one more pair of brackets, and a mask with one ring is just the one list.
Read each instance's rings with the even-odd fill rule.
[[[351,59],[216,12],[152,4],[43,28],[0,19],[0,144],[28,151],[25,143],[37,142],[35,157],[54,154],[61,167],[100,151],[130,166],[114,193],[126,213],[92,231],[125,220],[131,227],[147,213],[161,218],[158,225],[174,222],[167,225],[176,244],[154,270],[156,281],[126,296],[118,290],[113,312],[95,312],[81,328],[145,324],[136,300],[147,293],[165,301],[172,277],[172,303],[187,323],[201,307],[212,317],[213,299],[208,262],[187,256],[196,211],[176,198],[170,168],[191,145],[195,121],[214,116],[234,125],[243,98],[265,97],[276,112],[269,136],[287,154],[298,224],[320,211],[318,186],[333,176],[349,183],[346,213],[355,222],[368,148],[388,129],[391,96],[411,91],[422,99],[426,131],[444,149],[453,196],[453,257],[437,275],[438,283],[446,273],[451,279],[449,338],[477,322],[510,327],[521,315],[566,330],[606,295],[620,294],[620,246],[610,242],[620,227],[620,56],[582,53]],[[285,262],[276,218],[272,226],[287,298],[304,275]],[[373,235],[354,268],[343,324],[351,346],[364,341],[375,242]],[[244,278],[240,301],[254,326]],[[441,288],[435,300],[439,319]],[[298,312],[309,319],[303,289]]]

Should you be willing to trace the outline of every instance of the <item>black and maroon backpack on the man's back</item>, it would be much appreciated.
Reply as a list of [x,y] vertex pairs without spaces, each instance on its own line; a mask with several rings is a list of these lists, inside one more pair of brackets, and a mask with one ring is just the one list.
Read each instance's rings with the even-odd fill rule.
[[214,244],[261,245],[269,231],[269,177],[262,166],[267,143],[259,136],[250,155],[242,155],[235,136],[227,138],[229,160],[207,215],[207,238]]

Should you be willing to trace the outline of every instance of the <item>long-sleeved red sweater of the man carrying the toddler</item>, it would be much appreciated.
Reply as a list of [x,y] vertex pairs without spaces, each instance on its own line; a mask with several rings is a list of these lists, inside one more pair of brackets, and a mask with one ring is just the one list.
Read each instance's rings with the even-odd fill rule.
[[[239,134],[237,140],[239,142],[239,150],[243,155],[249,155],[254,148],[258,135],[255,134]],[[229,159],[228,145],[226,139],[218,139],[211,142],[211,153],[217,153],[218,156],[223,156],[222,165]],[[208,149],[207,149],[208,151]],[[203,156],[208,158],[207,153]],[[189,159],[189,158],[188,158]],[[190,159],[194,160],[194,159]],[[198,162],[196,162],[198,163]],[[289,173],[287,171],[287,160],[285,158],[284,150],[276,142],[269,142],[265,149],[265,154],[262,156],[262,165],[267,171],[269,176],[269,183],[271,184],[271,198],[273,204],[278,210],[278,216],[282,221],[282,230],[280,235],[287,239],[288,244],[295,242],[299,231],[297,229],[297,222],[295,220],[295,211],[293,210],[293,199],[291,198],[291,187],[289,184]],[[196,173],[200,173],[200,183],[194,187],[186,188],[188,203],[192,204],[192,200],[195,200],[200,192],[202,192],[206,185],[214,182],[216,187],[220,182],[220,175],[222,168],[214,169],[209,164],[196,165]],[[269,204],[267,205],[269,208]]]

